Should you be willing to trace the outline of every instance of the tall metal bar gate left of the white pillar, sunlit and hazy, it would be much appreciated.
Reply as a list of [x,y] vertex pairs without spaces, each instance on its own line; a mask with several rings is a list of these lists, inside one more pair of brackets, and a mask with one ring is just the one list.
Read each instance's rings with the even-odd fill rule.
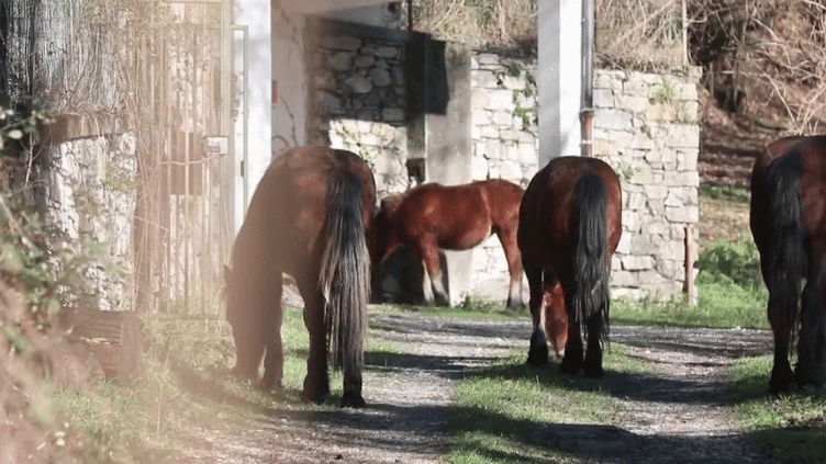
[[245,113],[246,95],[243,69],[233,69],[232,2],[153,3],[159,14],[135,50],[145,102],[136,306],[214,317],[234,233],[234,121]]

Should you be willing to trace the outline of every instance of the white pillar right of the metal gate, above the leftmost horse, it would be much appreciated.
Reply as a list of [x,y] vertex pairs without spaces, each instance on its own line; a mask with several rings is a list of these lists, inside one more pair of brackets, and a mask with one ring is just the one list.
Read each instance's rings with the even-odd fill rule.
[[[264,171],[272,156],[272,31],[270,0],[235,0],[234,20],[236,26],[247,29],[247,39],[234,35],[236,70],[243,70],[238,64],[243,63],[246,54],[246,88],[248,91],[248,113],[246,121],[246,144],[243,139],[235,140],[236,185],[246,189],[235,189],[235,225],[241,227],[243,214],[249,199],[255,192]],[[246,146],[246,156],[244,154]],[[244,178],[241,165],[244,162]]]

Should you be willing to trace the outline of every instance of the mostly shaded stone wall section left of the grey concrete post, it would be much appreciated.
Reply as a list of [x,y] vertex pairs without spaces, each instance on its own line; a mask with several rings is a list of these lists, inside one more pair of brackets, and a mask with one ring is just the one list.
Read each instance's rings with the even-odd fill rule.
[[308,138],[350,150],[372,167],[380,194],[408,190],[405,35],[323,21],[306,39],[313,79]]

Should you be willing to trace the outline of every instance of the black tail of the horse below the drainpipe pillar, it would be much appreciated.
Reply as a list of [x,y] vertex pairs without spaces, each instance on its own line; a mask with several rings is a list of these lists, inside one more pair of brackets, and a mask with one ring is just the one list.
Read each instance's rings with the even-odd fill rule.
[[591,172],[574,189],[574,282],[571,308],[580,330],[585,319],[599,314],[600,341],[609,339],[610,256],[605,213],[607,194],[602,179]]

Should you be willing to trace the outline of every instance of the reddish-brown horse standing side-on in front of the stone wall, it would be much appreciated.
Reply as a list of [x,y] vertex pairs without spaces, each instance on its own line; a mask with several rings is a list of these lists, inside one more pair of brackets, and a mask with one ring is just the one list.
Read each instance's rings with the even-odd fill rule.
[[428,183],[384,199],[376,214],[373,288],[378,290],[381,264],[403,244],[424,267],[425,303],[432,305],[438,299],[449,305],[438,250],[468,250],[496,234],[511,274],[506,306],[523,306],[522,262],[516,249],[522,193],[522,188],[512,182],[490,179],[454,186]]

